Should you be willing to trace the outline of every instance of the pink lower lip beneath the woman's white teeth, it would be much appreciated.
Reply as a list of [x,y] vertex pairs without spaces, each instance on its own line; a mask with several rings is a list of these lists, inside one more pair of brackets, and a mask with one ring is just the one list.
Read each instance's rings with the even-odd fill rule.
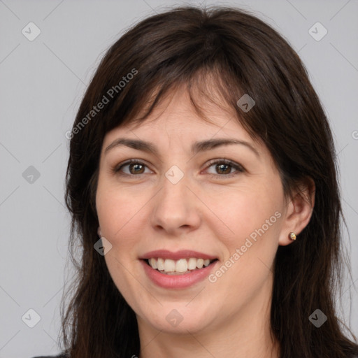
[[166,275],[166,273],[160,273],[152,268],[152,266],[149,266],[145,260],[141,260],[141,263],[148,278],[150,278],[155,285],[164,288],[186,288],[195,285],[197,282],[208,277],[213,266],[216,264],[216,262],[213,262],[213,264],[210,264],[209,266],[189,273],[183,273],[182,275]]

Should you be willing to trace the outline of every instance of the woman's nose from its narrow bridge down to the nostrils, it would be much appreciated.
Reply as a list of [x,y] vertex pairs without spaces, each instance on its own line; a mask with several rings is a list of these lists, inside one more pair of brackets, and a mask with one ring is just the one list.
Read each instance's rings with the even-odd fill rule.
[[156,195],[152,212],[153,227],[162,227],[168,233],[175,233],[183,227],[197,227],[200,222],[197,203],[190,196],[185,173],[172,166],[162,178],[162,189]]

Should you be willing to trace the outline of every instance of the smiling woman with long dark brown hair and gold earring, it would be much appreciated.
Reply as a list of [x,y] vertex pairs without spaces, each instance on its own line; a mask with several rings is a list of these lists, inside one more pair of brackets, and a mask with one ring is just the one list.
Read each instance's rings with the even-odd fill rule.
[[358,354],[334,304],[331,131],[267,24],[193,7],[136,24],[103,58],[69,138],[82,258],[64,357]]

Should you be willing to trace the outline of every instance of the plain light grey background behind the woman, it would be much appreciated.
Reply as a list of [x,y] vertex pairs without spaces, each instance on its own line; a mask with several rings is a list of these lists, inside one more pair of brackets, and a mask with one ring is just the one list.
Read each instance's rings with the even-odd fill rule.
[[[190,3],[253,10],[299,52],[334,131],[350,232],[349,238],[345,231],[345,246],[357,281],[358,1],[186,2]],[[0,0],[0,357],[59,352],[59,301],[71,275],[71,266],[65,270],[65,133],[108,46],[134,22],[174,4],[183,2]],[[29,32],[29,22],[41,30],[34,41],[22,34],[22,29]],[[328,30],[320,41],[308,32],[316,22]],[[39,178],[31,178],[34,169],[29,166]],[[355,286],[353,281],[345,282],[343,320],[357,335],[358,281]],[[41,317],[34,328],[22,321],[30,308]],[[24,316],[28,324],[34,320],[31,312]]]

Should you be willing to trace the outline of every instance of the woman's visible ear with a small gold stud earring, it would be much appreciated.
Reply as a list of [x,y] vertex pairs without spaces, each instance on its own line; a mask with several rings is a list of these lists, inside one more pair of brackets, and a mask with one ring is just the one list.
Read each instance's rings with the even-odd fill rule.
[[[307,178],[301,182],[287,200],[287,210],[282,222],[278,244],[286,246],[292,243],[289,233],[296,236],[307,226],[315,206],[315,182]],[[297,238],[299,240],[299,236]]]

